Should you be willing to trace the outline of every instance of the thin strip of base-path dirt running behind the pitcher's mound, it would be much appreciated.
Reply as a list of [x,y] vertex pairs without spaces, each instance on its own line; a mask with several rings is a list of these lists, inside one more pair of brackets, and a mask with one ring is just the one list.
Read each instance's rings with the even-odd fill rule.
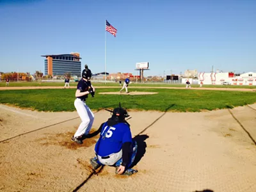
[[[70,86],[76,88],[76,86]],[[118,88],[119,86],[95,86],[95,88]],[[174,89],[185,90],[185,87],[156,87],[156,86],[131,86],[131,88],[155,88],[155,89]],[[37,89],[63,89],[63,86],[1,86],[0,90],[37,90]],[[240,92],[256,92],[256,89],[249,88],[191,88],[191,90],[219,90],[219,91],[240,91]]]

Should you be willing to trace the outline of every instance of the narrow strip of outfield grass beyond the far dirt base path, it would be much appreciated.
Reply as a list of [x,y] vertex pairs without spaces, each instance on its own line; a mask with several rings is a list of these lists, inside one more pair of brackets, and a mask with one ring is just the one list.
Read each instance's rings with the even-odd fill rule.
[[[77,82],[70,82],[70,86],[77,86]],[[60,82],[10,82],[9,86],[64,86],[65,83]],[[93,83],[94,86],[116,86],[120,87],[119,83]],[[0,86],[5,86],[5,83],[0,82]],[[130,88],[132,86],[161,86],[161,87],[185,87],[185,84],[166,84],[166,83],[132,83],[130,85]],[[191,87],[199,87],[199,84],[191,84]],[[248,86],[248,85],[212,85],[212,84],[204,84],[205,88],[248,88],[253,89],[256,88],[256,86]]]

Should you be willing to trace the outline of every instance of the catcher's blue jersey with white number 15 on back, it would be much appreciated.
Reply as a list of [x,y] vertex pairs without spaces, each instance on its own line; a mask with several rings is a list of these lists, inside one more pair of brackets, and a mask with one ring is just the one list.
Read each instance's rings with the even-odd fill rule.
[[119,123],[111,127],[105,122],[100,132],[100,138],[95,145],[95,152],[102,157],[109,156],[110,154],[120,152],[125,142],[132,142],[129,125]]

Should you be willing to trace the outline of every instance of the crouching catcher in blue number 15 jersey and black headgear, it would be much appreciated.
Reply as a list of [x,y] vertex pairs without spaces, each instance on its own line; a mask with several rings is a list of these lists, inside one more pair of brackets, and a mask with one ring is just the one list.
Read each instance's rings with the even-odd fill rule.
[[102,165],[115,166],[116,174],[132,175],[138,172],[131,169],[137,143],[132,141],[130,125],[125,121],[128,113],[119,107],[112,112],[111,118],[100,125],[100,138],[95,145],[95,157],[90,159],[93,170]]

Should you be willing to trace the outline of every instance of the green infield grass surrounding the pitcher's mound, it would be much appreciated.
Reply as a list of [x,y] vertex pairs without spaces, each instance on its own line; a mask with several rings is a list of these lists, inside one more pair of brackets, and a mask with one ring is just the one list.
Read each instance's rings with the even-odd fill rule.
[[[135,91],[132,88],[130,92]],[[155,95],[102,95],[100,92],[116,92],[115,88],[100,88],[94,98],[89,95],[86,104],[91,109],[115,108],[118,102],[127,109],[157,111],[201,111],[223,109],[253,104],[256,93],[225,92],[211,90],[165,90],[145,88],[143,92],[158,92]],[[0,103],[38,111],[74,111],[74,89],[56,90],[3,90]]]

